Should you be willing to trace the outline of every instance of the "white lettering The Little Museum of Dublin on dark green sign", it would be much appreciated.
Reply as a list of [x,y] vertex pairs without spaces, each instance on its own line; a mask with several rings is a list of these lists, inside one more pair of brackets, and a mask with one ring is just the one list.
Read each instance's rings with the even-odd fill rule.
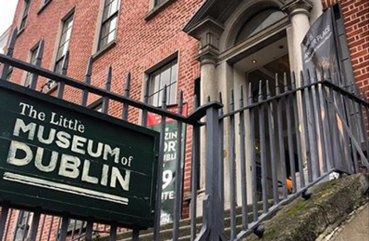
[[[118,164],[123,168],[131,167],[134,162],[133,156],[124,155],[119,147],[80,136],[79,133],[85,132],[85,126],[79,120],[67,118],[55,112],[46,115],[45,112],[37,111],[34,106],[23,102],[19,106],[20,115],[46,122],[49,118],[49,123],[66,130],[48,128],[17,118],[13,136],[38,141],[44,145],[56,145],[68,150],[68,154],[60,153],[60,150],[57,152],[47,149],[48,154],[46,155],[45,147],[11,140],[7,157],[8,164],[18,167],[34,165],[40,172],[55,172],[68,179],[78,179],[86,183],[109,186],[124,191],[130,190],[131,171],[109,165],[108,162]],[[68,133],[70,130],[76,131],[77,135]],[[81,159],[78,155],[90,156],[92,159]],[[102,159],[106,163],[96,162],[93,159]]]

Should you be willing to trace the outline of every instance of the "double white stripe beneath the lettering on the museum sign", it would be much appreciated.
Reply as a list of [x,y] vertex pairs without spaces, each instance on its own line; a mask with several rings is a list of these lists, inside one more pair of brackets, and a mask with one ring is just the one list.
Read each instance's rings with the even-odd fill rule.
[[37,187],[43,187],[43,188],[56,190],[56,191],[62,191],[65,193],[72,193],[72,194],[76,194],[79,196],[91,197],[91,198],[96,198],[96,199],[100,199],[104,201],[128,205],[128,198],[126,197],[119,197],[119,196],[115,196],[112,194],[101,193],[99,191],[85,189],[82,187],[70,186],[70,185],[66,185],[62,183],[56,183],[54,181],[43,180],[43,179],[24,176],[20,174],[11,173],[11,172],[5,172],[3,179],[7,181],[23,183],[23,184],[27,184],[31,186],[37,186]]

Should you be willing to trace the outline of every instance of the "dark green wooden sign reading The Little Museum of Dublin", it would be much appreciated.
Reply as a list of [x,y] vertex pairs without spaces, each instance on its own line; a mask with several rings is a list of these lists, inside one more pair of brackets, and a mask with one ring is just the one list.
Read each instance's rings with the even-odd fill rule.
[[0,81],[0,199],[154,224],[159,133]]

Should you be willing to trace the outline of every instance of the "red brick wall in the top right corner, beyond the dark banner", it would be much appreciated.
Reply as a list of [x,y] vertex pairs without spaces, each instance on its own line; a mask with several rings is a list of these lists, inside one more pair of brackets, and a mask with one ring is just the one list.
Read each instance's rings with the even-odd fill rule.
[[355,80],[362,91],[369,90],[369,1],[323,0],[324,7],[340,2]]

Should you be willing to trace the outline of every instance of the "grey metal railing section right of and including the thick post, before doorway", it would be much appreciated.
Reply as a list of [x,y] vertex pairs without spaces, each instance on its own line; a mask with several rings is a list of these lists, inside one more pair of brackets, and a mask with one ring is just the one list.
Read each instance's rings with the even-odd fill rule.
[[[228,113],[221,106],[219,114],[207,113],[206,137],[213,140],[207,148],[221,153],[207,154],[203,228],[195,239],[192,223],[194,240],[261,237],[262,222],[280,206],[298,196],[310,198],[309,189],[332,173],[369,167],[366,93],[359,95],[355,84],[345,86],[324,69],[313,76],[301,73],[300,87],[294,74],[274,80],[273,88],[268,80],[250,82],[247,98],[240,86],[237,107],[232,90]],[[214,213],[227,208],[230,228],[222,212]]]

